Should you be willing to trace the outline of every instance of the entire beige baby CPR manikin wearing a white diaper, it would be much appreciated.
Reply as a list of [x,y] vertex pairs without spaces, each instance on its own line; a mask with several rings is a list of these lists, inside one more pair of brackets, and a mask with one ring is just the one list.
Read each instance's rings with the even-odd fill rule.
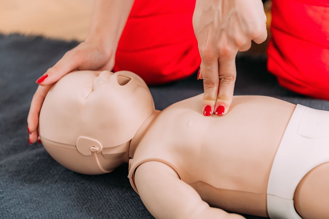
[[157,219],[329,218],[329,112],[235,96],[228,114],[205,117],[201,104],[202,94],[155,110],[133,72],[76,71],[48,92],[39,136],[79,173],[129,162]]

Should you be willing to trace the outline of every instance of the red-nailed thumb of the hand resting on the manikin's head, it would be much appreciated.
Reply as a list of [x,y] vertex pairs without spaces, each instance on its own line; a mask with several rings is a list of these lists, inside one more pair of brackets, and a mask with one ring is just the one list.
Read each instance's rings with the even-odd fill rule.
[[76,52],[70,50],[53,67],[39,77],[36,83],[43,86],[53,84],[68,72],[77,69],[81,62],[81,57]]

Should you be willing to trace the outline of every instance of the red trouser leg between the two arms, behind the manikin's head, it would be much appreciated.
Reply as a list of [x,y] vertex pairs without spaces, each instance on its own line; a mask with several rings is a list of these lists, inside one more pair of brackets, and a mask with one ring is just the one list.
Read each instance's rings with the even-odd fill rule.
[[114,71],[147,84],[181,79],[201,63],[192,26],[195,0],[135,0],[115,54]]

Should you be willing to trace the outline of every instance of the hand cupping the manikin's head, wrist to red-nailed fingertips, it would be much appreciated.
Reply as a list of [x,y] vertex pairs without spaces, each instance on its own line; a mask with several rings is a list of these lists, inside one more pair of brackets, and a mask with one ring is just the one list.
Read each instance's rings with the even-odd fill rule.
[[39,112],[53,83],[73,70],[112,70],[114,53],[104,50],[101,45],[99,42],[89,41],[79,44],[66,52],[63,58],[37,80],[39,86],[33,95],[27,117],[30,144],[38,140]]

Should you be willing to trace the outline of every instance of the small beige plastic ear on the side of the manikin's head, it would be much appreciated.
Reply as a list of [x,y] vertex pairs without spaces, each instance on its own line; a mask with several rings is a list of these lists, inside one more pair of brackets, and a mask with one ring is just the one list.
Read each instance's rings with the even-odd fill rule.
[[91,155],[91,152],[100,153],[103,149],[103,146],[99,141],[84,136],[80,136],[77,139],[76,147],[83,155]]

